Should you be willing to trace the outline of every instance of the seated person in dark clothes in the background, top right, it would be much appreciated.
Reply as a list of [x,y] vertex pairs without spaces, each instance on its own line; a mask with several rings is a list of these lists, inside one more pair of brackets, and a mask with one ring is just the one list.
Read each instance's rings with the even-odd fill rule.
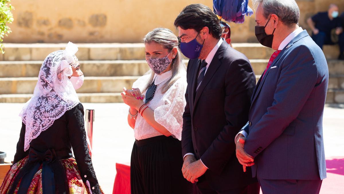
[[338,59],[344,60],[344,33],[343,24],[338,17],[338,6],[331,4],[326,12],[319,12],[308,18],[307,23],[312,29],[312,39],[322,49],[323,45],[334,45],[336,42],[331,40],[331,31],[335,29],[338,36],[338,45],[340,47],[340,55]]

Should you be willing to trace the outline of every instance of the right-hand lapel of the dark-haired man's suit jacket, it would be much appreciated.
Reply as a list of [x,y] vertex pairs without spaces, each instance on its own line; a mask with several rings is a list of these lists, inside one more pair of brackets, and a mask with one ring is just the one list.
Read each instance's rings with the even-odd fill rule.
[[[211,78],[214,76],[215,71],[221,66],[221,64],[222,64],[221,59],[223,58],[224,52],[226,51],[228,46],[229,46],[228,43],[226,41],[223,41],[221,46],[216,51],[216,54],[214,55],[212,62],[209,64],[209,67],[208,67],[208,69],[205,72],[205,75],[203,77],[202,83],[196,92],[195,102],[194,102],[194,110],[195,110],[195,106],[197,104],[197,101],[200,98],[205,86],[207,86],[207,84],[209,83]],[[197,80],[195,82],[197,82]]]

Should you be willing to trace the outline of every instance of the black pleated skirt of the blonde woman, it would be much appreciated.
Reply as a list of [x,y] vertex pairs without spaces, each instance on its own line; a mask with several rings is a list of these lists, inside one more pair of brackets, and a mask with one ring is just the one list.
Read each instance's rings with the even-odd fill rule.
[[132,194],[190,194],[192,184],[183,177],[182,146],[164,135],[136,140],[130,162]]

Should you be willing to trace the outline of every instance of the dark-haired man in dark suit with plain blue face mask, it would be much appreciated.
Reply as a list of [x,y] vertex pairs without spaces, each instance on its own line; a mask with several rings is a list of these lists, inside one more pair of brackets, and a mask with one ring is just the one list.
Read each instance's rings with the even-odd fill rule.
[[256,78],[248,59],[221,37],[214,12],[202,4],[175,19],[187,65],[183,115],[182,172],[202,194],[258,194],[259,184],[244,173],[233,139],[248,119]]

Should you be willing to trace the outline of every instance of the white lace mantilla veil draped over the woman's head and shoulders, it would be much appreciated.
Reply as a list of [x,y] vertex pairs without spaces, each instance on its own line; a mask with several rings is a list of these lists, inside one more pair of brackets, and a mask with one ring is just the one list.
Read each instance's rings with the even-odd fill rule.
[[25,124],[24,151],[56,119],[80,103],[68,79],[73,74],[77,50],[76,45],[69,42],[65,50],[52,52],[45,58],[33,96],[20,113]]

